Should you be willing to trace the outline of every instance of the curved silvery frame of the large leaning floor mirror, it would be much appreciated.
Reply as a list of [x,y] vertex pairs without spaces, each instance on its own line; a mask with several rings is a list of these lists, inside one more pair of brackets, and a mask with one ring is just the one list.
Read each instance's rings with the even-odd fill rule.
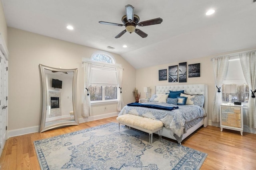
[[[45,66],[42,64],[39,64],[40,66],[40,72],[41,72],[41,78],[42,78],[42,119],[41,119],[41,127],[40,127],[40,133],[47,131],[49,129],[54,129],[57,127],[63,127],[63,126],[67,126],[67,125],[78,125],[78,116],[77,116],[77,112],[76,112],[76,81],[77,81],[77,73],[78,73],[78,69],[61,69],[61,68],[53,68],[53,67],[49,67],[49,66]],[[62,72],[64,74],[67,74],[68,72],[72,72],[73,73],[73,82],[72,82],[72,106],[73,106],[73,113],[74,113],[74,120],[72,120],[70,118],[70,120],[65,120],[65,121],[60,121],[60,122],[56,122],[56,123],[50,123],[50,125],[46,125],[46,114],[48,111],[49,106],[47,106],[47,100],[49,100],[49,88],[47,86],[47,80],[48,78],[47,76],[47,71],[51,71],[51,72]],[[59,104],[59,103],[58,103]],[[68,111],[69,112],[69,111]],[[50,111],[49,111],[50,113]],[[70,114],[70,117],[72,115]]]

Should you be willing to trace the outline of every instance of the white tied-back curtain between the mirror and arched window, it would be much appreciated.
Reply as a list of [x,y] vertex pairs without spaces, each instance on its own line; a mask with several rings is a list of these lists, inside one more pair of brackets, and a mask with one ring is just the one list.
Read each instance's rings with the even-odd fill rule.
[[83,62],[84,65],[84,100],[83,100],[83,110],[82,110],[82,116],[89,117],[90,111],[91,111],[91,99],[90,95],[88,93],[88,90],[86,88],[89,88],[89,82],[90,82],[90,72],[91,72],[91,63],[90,62]]

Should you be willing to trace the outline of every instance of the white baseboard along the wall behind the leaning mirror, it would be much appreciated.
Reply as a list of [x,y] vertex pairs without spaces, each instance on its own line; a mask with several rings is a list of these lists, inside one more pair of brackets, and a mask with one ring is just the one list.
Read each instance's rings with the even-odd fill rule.
[[[79,121],[79,123],[84,123],[84,122],[88,122],[88,121],[94,121],[94,120],[98,120],[98,119],[104,119],[107,117],[117,116],[118,114],[119,114],[119,112],[113,112],[113,113],[107,113],[107,114],[103,114],[103,115],[83,117],[83,118],[79,118],[78,121]],[[29,133],[35,133],[35,132],[39,132],[39,130],[40,130],[40,125],[33,126],[33,127],[26,127],[26,128],[22,128],[22,129],[14,129],[14,130],[10,130],[7,132],[8,133],[7,138],[20,136],[20,135],[26,135]]]

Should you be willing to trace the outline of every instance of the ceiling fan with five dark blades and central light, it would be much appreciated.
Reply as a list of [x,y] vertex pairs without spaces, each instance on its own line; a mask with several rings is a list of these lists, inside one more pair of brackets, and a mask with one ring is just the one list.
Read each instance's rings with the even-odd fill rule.
[[148,34],[144,33],[140,29],[137,29],[136,25],[138,25],[139,27],[143,27],[148,25],[160,24],[163,21],[162,18],[155,18],[152,20],[142,21],[139,23],[140,18],[139,16],[134,14],[134,7],[131,5],[126,5],[125,9],[126,9],[126,15],[122,17],[122,22],[124,24],[99,21],[99,23],[106,24],[106,25],[116,25],[120,27],[125,26],[125,30],[120,32],[118,35],[116,35],[115,38],[120,38],[126,32],[129,32],[129,33],[135,32],[136,34],[140,35],[140,37],[146,38]]

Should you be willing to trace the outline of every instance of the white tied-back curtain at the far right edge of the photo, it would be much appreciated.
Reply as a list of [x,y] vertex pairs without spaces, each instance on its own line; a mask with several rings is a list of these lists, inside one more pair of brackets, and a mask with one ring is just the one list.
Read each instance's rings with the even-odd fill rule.
[[[251,51],[247,53],[240,54],[240,62],[242,65],[244,78],[248,84],[249,90],[256,90],[256,51]],[[248,125],[250,127],[256,128],[256,102],[255,98],[252,98],[252,93],[250,92],[248,101]]]

